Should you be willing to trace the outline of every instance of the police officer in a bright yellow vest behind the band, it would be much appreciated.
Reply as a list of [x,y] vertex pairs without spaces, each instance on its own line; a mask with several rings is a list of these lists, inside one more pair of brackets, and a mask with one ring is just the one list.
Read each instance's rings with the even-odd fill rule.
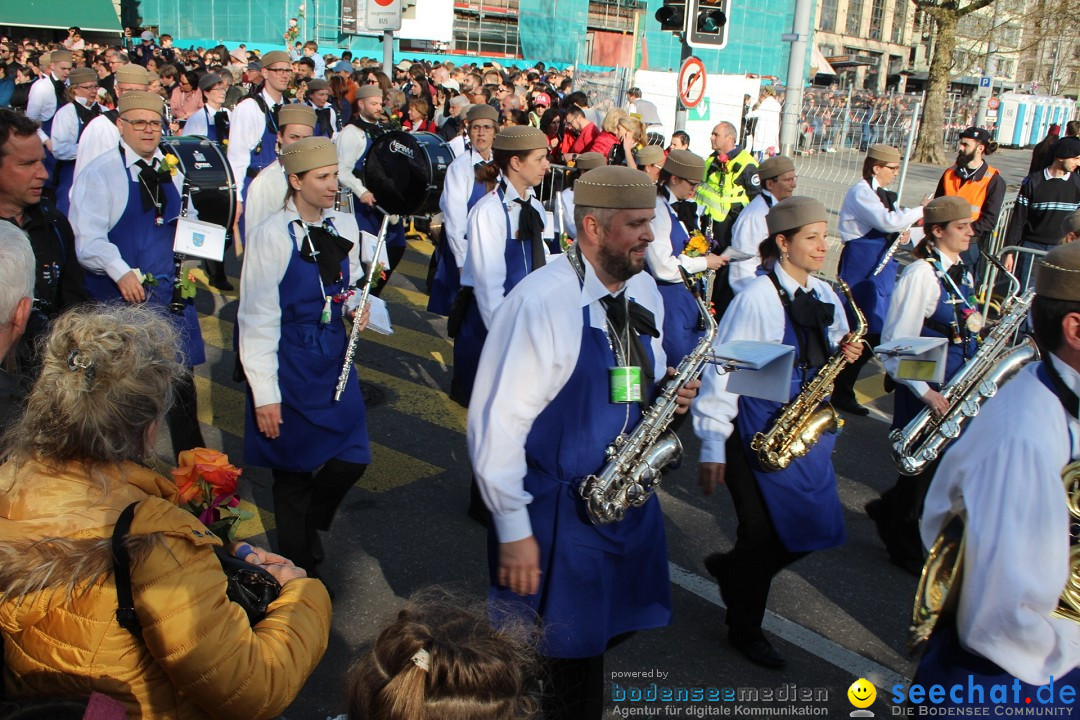
[[[696,200],[703,208],[701,228],[712,222],[715,252],[723,253],[731,244],[731,228],[735,218],[761,191],[757,179],[757,161],[737,144],[735,126],[729,122],[713,127],[710,142],[713,154],[705,161],[705,179],[698,186]],[[713,285],[716,312],[723,314],[734,293],[728,285],[728,269],[716,273]]]

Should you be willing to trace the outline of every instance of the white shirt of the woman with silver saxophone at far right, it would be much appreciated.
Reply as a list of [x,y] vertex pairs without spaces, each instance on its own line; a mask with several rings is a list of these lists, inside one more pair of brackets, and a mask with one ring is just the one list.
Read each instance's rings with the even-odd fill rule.
[[[944,253],[941,254],[942,268],[947,272],[954,266]],[[917,260],[904,268],[896,287],[889,298],[889,312],[881,327],[881,343],[892,342],[897,338],[917,338],[922,335],[922,321],[937,311],[942,288],[937,282],[937,273],[927,260]],[[889,355],[882,358],[885,370],[893,380],[921,398],[930,390],[930,385],[921,380],[902,380],[896,377],[900,369],[900,357]]]

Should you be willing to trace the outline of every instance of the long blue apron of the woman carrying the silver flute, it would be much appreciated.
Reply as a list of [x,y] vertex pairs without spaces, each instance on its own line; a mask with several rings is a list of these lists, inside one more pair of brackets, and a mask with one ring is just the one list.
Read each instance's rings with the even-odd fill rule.
[[[289,225],[291,237],[295,237],[295,228]],[[248,386],[244,462],[296,473],[313,472],[334,459],[369,464],[366,411],[355,367],[349,369],[349,382],[340,402],[334,402],[348,342],[341,322],[342,303],[330,302],[330,322],[319,322],[325,304],[319,285],[319,266],[300,257],[295,240],[292,245],[288,267],[278,285],[281,435],[270,439],[259,432]],[[348,285],[347,257],[341,260],[341,280],[326,285],[326,293],[336,295]]]

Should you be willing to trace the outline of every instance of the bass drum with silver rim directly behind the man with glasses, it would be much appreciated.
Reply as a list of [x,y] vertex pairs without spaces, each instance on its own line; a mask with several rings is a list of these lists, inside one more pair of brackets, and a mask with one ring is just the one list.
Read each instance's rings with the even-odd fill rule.
[[180,161],[184,190],[190,193],[199,219],[219,225],[231,234],[237,219],[237,184],[221,148],[208,138],[185,135],[162,138],[161,151]]

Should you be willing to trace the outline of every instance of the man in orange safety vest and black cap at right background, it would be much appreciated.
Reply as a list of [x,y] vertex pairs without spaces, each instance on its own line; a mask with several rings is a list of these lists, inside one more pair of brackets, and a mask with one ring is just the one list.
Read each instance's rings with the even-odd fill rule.
[[1005,199],[1005,181],[1001,173],[984,160],[998,149],[998,144],[990,139],[987,131],[969,127],[960,133],[957,145],[956,164],[942,175],[934,198],[957,195],[971,205],[971,229],[975,234],[960,258],[971,274],[977,276],[980,273],[976,270],[982,264],[978,248],[986,248],[990,233],[994,232],[1001,213],[1001,203]]

